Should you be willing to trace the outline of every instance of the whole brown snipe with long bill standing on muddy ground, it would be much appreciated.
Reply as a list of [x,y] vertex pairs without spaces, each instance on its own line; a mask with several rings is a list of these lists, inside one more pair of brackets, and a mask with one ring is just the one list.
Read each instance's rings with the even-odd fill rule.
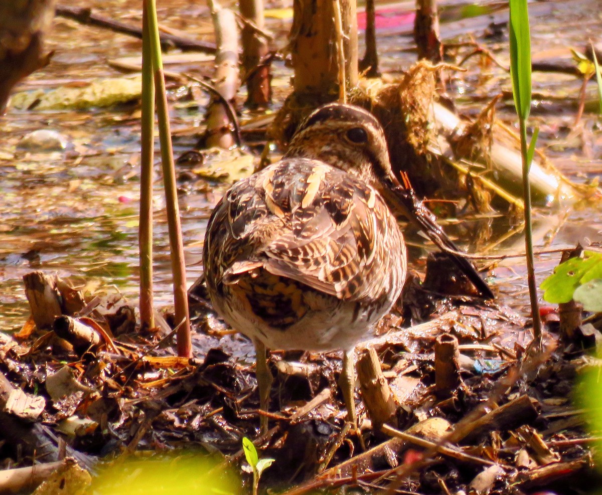
[[406,276],[392,212],[417,214],[433,240],[453,246],[422,208],[393,175],[377,120],[341,104],[315,110],[281,161],[228,190],[207,226],[205,278],[218,313],[255,344],[262,409],[272,382],[266,348],[342,349],[340,385],[356,422],[353,349]]

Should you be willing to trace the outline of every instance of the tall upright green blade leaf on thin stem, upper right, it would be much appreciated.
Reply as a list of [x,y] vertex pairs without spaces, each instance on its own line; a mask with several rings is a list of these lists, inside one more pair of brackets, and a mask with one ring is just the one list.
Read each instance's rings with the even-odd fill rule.
[[510,0],[510,75],[517,114],[527,120],[531,109],[531,40],[527,0]]

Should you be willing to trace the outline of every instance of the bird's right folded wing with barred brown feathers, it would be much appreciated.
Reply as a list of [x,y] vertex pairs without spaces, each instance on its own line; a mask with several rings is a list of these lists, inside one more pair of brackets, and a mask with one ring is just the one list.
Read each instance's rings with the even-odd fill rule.
[[393,246],[403,242],[380,195],[337,169],[324,174],[320,193],[290,222],[293,228],[264,247],[265,269],[340,299],[378,299],[389,289],[383,280],[392,257],[405,256],[385,245],[383,232],[393,235]]

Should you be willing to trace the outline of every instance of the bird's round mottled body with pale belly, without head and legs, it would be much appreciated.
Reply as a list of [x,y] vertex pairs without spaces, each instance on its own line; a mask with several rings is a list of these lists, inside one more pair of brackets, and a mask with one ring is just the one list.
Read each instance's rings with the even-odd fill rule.
[[402,234],[379,193],[308,158],[237,182],[205,246],[217,311],[275,349],[352,348],[405,278]]

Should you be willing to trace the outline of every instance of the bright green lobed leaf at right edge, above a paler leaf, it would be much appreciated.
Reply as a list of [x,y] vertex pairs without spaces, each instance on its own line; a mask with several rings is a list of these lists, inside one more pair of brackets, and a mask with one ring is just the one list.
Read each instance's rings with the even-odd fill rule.
[[598,278],[602,278],[602,253],[585,251],[582,258],[560,263],[542,282],[544,299],[551,303],[569,302],[577,287]]

